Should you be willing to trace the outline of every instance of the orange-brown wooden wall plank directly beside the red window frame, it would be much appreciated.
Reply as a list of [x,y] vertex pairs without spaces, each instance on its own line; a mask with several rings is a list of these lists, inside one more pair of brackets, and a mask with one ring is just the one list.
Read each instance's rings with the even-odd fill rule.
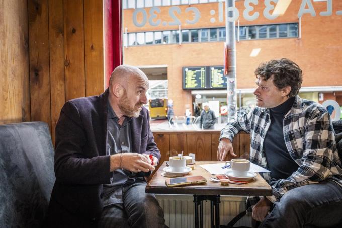
[[[104,91],[103,1],[84,1],[85,95]],[[102,18],[101,18],[102,19]]]

